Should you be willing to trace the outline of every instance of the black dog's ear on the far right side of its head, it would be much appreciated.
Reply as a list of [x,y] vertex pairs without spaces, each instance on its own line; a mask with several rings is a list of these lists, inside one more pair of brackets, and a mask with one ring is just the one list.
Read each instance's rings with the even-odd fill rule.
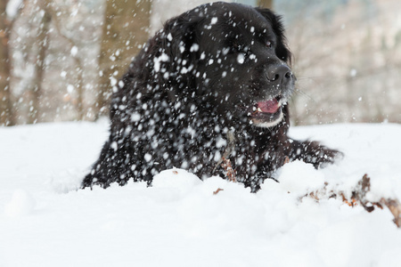
[[275,14],[266,8],[255,8],[266,20],[270,21],[274,34],[277,36],[277,46],[275,53],[282,61],[291,65],[292,55],[287,46],[287,38],[284,35],[284,26],[282,25],[282,16]]

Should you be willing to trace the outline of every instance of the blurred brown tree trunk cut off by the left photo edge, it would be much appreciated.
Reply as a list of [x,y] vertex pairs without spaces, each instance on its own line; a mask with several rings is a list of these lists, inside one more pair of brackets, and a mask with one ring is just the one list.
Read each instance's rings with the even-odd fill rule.
[[0,125],[14,125],[12,93],[10,88],[10,34],[12,21],[8,20],[5,8],[8,1],[0,1]]

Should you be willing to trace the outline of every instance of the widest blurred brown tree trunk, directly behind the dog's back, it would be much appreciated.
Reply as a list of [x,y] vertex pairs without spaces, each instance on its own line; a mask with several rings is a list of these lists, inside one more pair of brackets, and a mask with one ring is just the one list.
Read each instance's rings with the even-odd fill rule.
[[107,0],[99,58],[99,88],[94,110],[108,114],[112,85],[148,40],[151,0]]

